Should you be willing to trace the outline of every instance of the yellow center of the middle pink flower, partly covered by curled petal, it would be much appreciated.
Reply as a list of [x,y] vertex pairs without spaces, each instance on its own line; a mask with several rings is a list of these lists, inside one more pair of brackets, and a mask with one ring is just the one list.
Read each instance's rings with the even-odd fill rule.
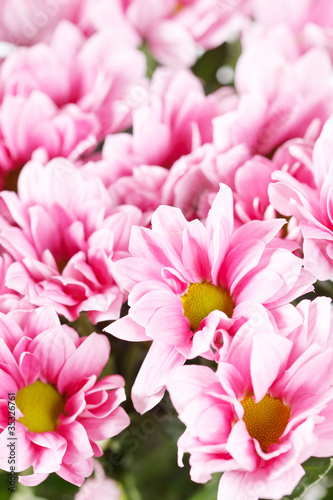
[[194,332],[199,330],[201,321],[212,311],[223,311],[231,318],[234,310],[227,290],[212,283],[191,283],[181,299],[184,316],[190,321]]

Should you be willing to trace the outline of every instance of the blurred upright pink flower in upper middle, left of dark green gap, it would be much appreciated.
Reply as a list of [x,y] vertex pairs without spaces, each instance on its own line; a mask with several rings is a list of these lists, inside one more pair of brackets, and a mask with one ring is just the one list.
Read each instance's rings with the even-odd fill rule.
[[[144,90],[144,89],[143,89]],[[104,156],[113,172],[128,175],[135,166],[169,168],[182,155],[211,142],[212,119],[220,113],[219,95],[205,96],[198,78],[189,71],[160,68],[149,94],[133,110],[133,134],[107,138]]]

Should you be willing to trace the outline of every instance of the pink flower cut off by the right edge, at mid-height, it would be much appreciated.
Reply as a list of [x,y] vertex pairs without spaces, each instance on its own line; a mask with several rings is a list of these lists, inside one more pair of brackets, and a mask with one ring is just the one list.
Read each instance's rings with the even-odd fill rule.
[[315,185],[285,172],[275,172],[271,203],[283,215],[294,216],[304,238],[304,265],[319,280],[333,279],[333,119],[325,124],[313,150]]

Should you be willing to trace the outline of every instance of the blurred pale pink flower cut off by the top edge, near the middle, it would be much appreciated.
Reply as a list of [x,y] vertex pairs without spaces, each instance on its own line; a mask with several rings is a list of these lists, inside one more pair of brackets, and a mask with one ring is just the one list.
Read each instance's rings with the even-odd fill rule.
[[192,66],[198,47],[211,49],[244,28],[247,0],[123,1],[126,16],[153,56],[173,67]]

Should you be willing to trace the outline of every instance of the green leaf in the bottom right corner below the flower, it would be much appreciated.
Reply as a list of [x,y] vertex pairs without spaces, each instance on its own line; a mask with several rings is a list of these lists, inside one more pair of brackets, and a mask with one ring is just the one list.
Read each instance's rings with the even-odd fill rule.
[[318,483],[333,466],[333,458],[309,458],[302,467],[305,475],[302,477],[293,493],[282,500],[299,500],[311,486]]

